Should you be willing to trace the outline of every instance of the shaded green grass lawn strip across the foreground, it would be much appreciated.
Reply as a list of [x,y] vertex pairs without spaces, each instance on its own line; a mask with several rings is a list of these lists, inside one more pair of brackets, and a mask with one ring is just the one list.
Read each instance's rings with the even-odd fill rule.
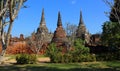
[[0,66],[0,71],[120,71],[120,61]]

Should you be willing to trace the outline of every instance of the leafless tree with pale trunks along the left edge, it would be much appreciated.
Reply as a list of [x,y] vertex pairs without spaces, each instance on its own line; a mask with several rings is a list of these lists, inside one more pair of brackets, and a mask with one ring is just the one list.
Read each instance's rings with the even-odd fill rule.
[[[16,19],[20,8],[26,0],[0,0],[0,37],[2,43],[2,52],[0,54],[0,62],[9,44],[10,33],[13,22]],[[5,27],[8,26],[5,35]]]

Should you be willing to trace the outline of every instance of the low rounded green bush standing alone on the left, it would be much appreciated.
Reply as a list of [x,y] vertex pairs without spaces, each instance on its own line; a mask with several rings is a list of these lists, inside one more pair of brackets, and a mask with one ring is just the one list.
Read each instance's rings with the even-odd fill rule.
[[34,54],[19,54],[16,56],[17,64],[35,64],[37,57]]

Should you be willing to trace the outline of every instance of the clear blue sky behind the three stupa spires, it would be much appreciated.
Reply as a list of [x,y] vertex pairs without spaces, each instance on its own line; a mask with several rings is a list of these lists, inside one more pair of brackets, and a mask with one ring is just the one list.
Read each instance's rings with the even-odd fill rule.
[[102,31],[102,24],[108,21],[104,14],[109,7],[102,0],[28,0],[14,22],[12,36],[19,36],[21,33],[29,36],[36,31],[42,8],[45,12],[46,25],[49,31],[54,32],[57,24],[58,11],[61,12],[62,24],[69,22],[78,25],[80,10],[83,13],[83,20],[88,31],[92,34]]

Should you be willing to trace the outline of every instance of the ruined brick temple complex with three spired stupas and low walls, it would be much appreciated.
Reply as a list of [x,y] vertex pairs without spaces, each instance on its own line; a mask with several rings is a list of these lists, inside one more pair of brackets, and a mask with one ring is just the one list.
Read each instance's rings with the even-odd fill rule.
[[[40,45],[42,45],[42,48],[40,49],[40,54],[44,54],[46,48],[48,47],[49,43],[55,43],[57,47],[63,47],[63,50],[67,50],[68,47],[70,47],[70,44],[68,43],[68,39],[66,37],[65,30],[62,27],[62,20],[60,12],[58,13],[58,21],[57,21],[57,28],[54,32],[54,35],[52,33],[49,33],[46,22],[45,22],[45,16],[44,16],[44,9],[42,10],[42,16],[40,25],[37,28],[37,32],[32,33],[32,40],[36,40],[39,42]],[[90,35],[89,32],[86,29],[86,26],[84,24],[83,18],[82,18],[82,12],[80,12],[80,20],[78,29],[76,31],[76,38],[80,38],[85,41],[87,44],[87,47],[90,48],[90,51],[93,53],[106,51],[107,49],[101,48],[101,35],[94,34]],[[1,37],[0,37],[1,39]],[[10,44],[8,46],[8,49],[6,53],[8,54],[17,54],[17,53],[34,53],[31,50],[31,47],[28,46],[27,41],[29,41],[28,38],[24,38],[24,35],[21,34],[20,37],[10,37]],[[85,44],[85,45],[86,45]],[[0,44],[0,52],[1,52],[1,44]],[[34,47],[33,47],[34,48]]]

